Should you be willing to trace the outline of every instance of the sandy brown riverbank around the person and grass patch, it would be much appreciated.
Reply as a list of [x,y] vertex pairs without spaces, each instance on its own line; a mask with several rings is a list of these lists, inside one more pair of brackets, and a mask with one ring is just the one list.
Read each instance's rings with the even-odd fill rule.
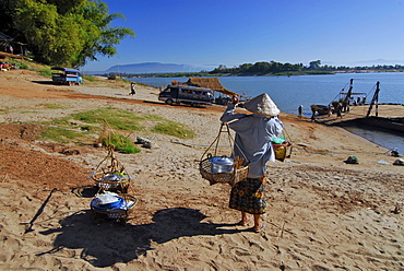
[[[404,202],[404,166],[393,165],[389,150],[281,114],[293,152],[268,164],[269,211],[257,234],[252,224],[236,225],[230,186],[210,186],[199,172],[224,107],[168,106],[158,90],[140,85],[129,92],[111,80],[61,86],[32,71],[0,74],[1,270],[404,270],[404,210],[394,212]],[[126,226],[92,220],[88,176],[107,150],[39,141],[45,128],[32,123],[104,107],[195,132],[132,133],[152,148],[116,153],[136,198]],[[346,164],[348,156],[359,164]]]

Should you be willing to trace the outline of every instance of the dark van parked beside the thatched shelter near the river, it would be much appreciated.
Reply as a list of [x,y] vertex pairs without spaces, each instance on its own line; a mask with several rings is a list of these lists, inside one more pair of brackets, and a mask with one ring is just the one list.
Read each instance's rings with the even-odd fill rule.
[[190,104],[191,106],[211,105],[214,102],[212,90],[190,85],[168,85],[158,95],[158,101],[167,105]]

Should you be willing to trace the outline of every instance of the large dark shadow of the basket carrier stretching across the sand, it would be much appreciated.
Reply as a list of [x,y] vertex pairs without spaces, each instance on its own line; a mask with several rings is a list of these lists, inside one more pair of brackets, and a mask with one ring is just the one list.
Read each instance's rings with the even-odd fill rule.
[[62,221],[60,228],[40,232],[48,235],[59,233],[54,248],[37,256],[55,254],[63,248],[83,249],[81,258],[94,267],[110,267],[116,262],[129,262],[151,250],[152,241],[163,244],[185,236],[223,235],[249,229],[221,227],[235,224],[201,222],[207,217],[199,210],[188,208],[163,209],[154,213],[153,223],[119,226],[116,223],[92,223],[91,211],[80,211]]

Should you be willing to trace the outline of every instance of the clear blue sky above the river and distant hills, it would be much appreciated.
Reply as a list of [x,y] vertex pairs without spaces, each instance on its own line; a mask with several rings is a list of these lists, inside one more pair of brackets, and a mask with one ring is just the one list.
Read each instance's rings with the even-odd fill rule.
[[[404,64],[404,0],[104,0],[135,32],[81,70],[161,62]],[[383,62],[379,59],[390,60]],[[369,61],[371,62],[361,62]],[[376,61],[378,60],[378,61]]]

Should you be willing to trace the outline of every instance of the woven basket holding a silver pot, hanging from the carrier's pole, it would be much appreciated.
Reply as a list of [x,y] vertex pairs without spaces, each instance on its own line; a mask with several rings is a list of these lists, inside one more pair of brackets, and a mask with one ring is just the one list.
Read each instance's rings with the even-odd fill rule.
[[210,158],[205,158],[199,163],[199,170],[202,178],[207,179],[211,185],[216,182],[227,182],[230,186],[234,186],[236,182],[247,178],[249,167],[243,166],[229,173],[212,173],[212,163]]

